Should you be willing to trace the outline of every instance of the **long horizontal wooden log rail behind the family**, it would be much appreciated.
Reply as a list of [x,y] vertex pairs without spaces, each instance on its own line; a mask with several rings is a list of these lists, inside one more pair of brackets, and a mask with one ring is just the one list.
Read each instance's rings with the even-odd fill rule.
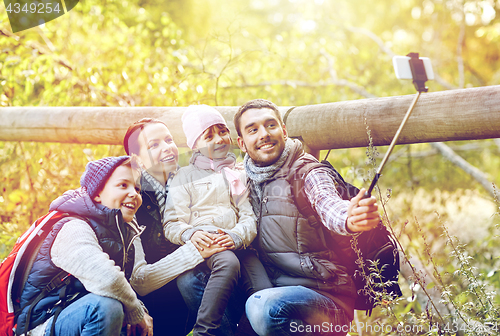
[[[413,95],[280,107],[290,136],[312,150],[363,147],[367,127],[376,146],[388,145]],[[154,117],[166,122],[176,143],[185,144],[185,107],[4,107],[0,140],[121,144],[132,122]],[[236,138],[238,107],[216,107]],[[500,138],[500,85],[423,93],[398,144]]]

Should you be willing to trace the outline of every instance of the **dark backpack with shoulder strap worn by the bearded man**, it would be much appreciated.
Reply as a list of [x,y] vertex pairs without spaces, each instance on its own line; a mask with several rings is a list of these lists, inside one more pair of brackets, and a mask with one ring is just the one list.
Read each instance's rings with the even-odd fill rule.
[[[398,285],[399,253],[396,240],[382,223],[370,231],[351,237],[335,234],[322,225],[304,191],[304,177],[319,167],[326,168],[331,174],[342,199],[350,200],[359,193],[358,188],[344,181],[330,162],[306,163],[299,170],[300,174],[289,181],[295,205],[307,218],[309,225],[315,228],[321,225],[323,243],[340,257],[340,264],[346,267],[352,277],[357,292],[354,309],[365,310],[366,314],[371,315],[373,308],[381,303],[382,293],[392,297],[402,296]],[[380,272],[374,272],[373,262]]]

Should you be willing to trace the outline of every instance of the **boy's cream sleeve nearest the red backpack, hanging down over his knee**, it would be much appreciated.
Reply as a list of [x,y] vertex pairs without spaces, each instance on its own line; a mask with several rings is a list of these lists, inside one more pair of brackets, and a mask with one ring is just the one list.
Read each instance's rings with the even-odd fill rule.
[[54,265],[80,280],[89,292],[120,301],[125,322],[133,325],[144,318],[141,302],[125,274],[102,250],[86,222],[75,219],[64,224],[54,240],[50,256]]

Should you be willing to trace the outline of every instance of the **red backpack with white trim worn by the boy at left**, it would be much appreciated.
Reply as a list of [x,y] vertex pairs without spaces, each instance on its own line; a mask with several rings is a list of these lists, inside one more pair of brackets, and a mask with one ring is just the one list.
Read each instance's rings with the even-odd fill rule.
[[[69,216],[67,213],[51,211],[38,218],[19,237],[10,254],[0,265],[0,336],[14,335],[16,314],[20,313],[19,297],[38,250],[54,224],[67,216]],[[68,285],[71,278],[68,272],[61,271],[49,282],[40,295],[29,302],[29,305],[34,307],[47,293]]]

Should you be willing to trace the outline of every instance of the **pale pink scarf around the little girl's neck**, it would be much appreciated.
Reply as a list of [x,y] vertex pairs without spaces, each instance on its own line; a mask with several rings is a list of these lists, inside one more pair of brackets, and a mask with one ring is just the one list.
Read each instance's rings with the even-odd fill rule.
[[201,152],[196,151],[193,153],[189,163],[200,169],[211,169],[217,173],[223,171],[231,188],[231,195],[241,195],[246,189],[244,183],[240,180],[240,174],[233,170],[236,163],[236,155],[231,152],[228,152],[223,159],[212,160],[201,154]]

